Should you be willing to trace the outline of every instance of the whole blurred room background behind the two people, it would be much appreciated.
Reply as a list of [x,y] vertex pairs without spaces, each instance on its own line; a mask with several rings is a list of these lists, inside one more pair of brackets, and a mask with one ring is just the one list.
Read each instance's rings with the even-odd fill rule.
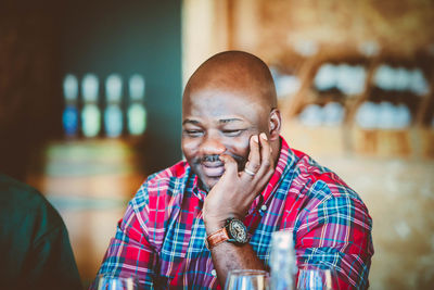
[[433,23],[431,0],[3,0],[0,172],[60,211],[87,286],[127,201],[182,157],[189,76],[245,50],[290,146],[368,205],[371,289],[432,289]]

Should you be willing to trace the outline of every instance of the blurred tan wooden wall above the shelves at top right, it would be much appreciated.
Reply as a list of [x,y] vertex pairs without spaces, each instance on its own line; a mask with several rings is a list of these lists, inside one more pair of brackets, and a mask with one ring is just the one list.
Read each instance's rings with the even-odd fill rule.
[[434,2],[429,0],[232,2],[239,20],[233,42],[267,60],[306,41],[342,51],[374,41],[387,53],[400,55],[433,49]]

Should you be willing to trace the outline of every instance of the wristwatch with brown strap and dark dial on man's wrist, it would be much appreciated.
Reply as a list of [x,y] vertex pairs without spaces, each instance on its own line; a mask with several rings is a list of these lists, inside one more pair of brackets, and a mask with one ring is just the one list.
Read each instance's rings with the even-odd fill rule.
[[243,222],[233,217],[226,219],[225,227],[206,237],[205,245],[210,250],[224,241],[238,245],[248,242],[247,229]]

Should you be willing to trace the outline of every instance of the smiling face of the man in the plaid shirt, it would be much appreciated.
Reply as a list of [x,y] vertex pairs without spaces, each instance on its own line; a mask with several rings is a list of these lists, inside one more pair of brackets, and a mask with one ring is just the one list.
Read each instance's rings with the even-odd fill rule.
[[201,89],[182,105],[182,151],[205,190],[225,172],[218,159],[232,156],[239,171],[247,161],[251,136],[268,131],[269,112],[243,91]]

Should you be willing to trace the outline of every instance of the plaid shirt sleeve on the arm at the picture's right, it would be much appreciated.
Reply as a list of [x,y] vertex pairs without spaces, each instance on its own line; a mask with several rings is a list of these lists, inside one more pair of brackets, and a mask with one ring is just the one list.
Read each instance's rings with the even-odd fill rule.
[[372,220],[348,187],[319,180],[296,224],[298,266],[334,268],[340,289],[367,289],[373,254]]

